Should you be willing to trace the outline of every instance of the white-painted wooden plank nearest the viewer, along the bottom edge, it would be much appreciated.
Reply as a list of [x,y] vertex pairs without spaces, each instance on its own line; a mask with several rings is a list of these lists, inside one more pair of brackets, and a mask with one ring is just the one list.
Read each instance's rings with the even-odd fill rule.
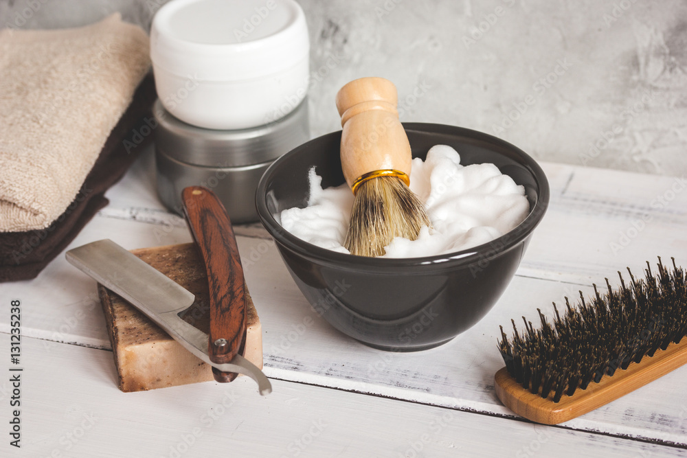
[[[8,342],[1,334],[0,346]],[[122,393],[113,383],[109,352],[58,344],[45,358],[36,339],[23,340],[21,361],[21,449],[2,444],[3,456],[684,455],[677,448],[620,437],[282,380],[273,381],[274,391],[266,397],[258,396],[247,378]],[[6,406],[10,387],[7,381],[0,385]],[[11,415],[8,407],[0,409],[0,422],[7,425]]]

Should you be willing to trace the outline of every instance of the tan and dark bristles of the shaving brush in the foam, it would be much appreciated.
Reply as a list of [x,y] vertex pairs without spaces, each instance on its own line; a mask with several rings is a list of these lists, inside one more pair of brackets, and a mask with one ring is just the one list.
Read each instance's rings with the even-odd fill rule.
[[425,206],[396,176],[364,181],[356,190],[343,246],[351,254],[381,256],[394,237],[416,240],[431,227]]

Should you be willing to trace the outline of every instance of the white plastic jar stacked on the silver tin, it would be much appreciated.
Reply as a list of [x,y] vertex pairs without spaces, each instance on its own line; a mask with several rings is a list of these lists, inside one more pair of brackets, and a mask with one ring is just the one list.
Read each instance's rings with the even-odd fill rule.
[[201,128],[253,128],[291,113],[308,90],[309,52],[293,0],[172,0],[150,30],[159,100]]

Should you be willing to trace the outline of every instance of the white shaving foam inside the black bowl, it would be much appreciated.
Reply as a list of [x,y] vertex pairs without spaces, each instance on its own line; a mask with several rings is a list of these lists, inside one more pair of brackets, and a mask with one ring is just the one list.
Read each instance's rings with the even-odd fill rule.
[[[282,211],[282,227],[318,247],[348,253],[343,240],[353,205],[344,183],[322,189],[322,178],[309,172],[310,197],[305,208]],[[530,211],[521,185],[491,163],[461,165],[450,146],[437,145],[427,159],[413,159],[410,189],[427,208],[433,229],[417,240],[397,237],[383,257],[425,257],[453,253],[490,242],[515,229]]]

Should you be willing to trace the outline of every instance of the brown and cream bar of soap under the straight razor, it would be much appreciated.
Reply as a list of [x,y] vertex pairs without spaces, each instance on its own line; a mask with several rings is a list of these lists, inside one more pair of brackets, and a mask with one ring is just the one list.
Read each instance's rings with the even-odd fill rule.
[[[207,333],[210,296],[205,264],[194,243],[132,250],[195,297],[181,318]],[[185,350],[169,334],[119,295],[98,285],[107,330],[117,368],[120,390],[145,391],[214,380],[210,365]],[[262,369],[262,328],[246,289],[246,341],[244,357]]]

